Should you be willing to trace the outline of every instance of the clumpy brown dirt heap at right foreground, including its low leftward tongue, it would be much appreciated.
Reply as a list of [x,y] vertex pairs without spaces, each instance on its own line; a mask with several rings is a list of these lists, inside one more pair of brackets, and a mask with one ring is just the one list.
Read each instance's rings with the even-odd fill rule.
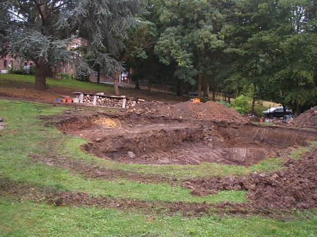
[[194,195],[220,190],[246,190],[255,206],[265,208],[317,207],[317,148],[299,160],[286,162],[288,169],[274,173],[252,173],[244,178],[201,178],[184,182]]

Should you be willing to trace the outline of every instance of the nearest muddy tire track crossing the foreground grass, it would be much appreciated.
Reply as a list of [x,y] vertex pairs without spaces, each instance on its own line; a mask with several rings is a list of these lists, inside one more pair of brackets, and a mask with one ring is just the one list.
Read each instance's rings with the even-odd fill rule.
[[[144,201],[113,197],[96,197],[84,192],[59,192],[56,189],[43,188],[22,182],[13,182],[0,176],[0,197],[11,201],[45,202],[60,207],[84,206],[87,208],[115,208],[119,211],[134,211],[147,216],[183,216],[203,217],[218,215],[234,215],[250,217],[260,215],[272,219],[292,219],[296,217],[294,210],[276,210],[270,208],[254,207],[250,203],[229,203],[223,201],[217,204],[206,202],[168,202]],[[154,220],[154,219],[152,219]],[[149,220],[149,221],[152,221]]]

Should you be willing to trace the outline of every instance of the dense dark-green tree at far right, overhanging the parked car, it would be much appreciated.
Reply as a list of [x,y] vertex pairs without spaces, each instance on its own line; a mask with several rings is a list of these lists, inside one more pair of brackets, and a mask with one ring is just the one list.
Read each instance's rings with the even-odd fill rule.
[[[315,14],[314,14],[315,13]],[[316,3],[246,0],[233,19],[231,78],[237,91],[292,106],[297,114],[316,103]],[[315,102],[314,102],[315,101]]]

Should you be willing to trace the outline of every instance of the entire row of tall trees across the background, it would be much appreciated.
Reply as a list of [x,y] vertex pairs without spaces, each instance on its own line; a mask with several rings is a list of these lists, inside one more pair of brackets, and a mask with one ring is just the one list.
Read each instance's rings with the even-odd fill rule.
[[[50,68],[75,59],[79,73],[133,68],[137,88],[145,78],[179,96],[193,87],[213,99],[246,94],[297,114],[317,104],[314,0],[0,2],[1,52],[8,41],[12,55],[33,60],[39,90]],[[73,37],[87,41],[76,57],[67,50]]]

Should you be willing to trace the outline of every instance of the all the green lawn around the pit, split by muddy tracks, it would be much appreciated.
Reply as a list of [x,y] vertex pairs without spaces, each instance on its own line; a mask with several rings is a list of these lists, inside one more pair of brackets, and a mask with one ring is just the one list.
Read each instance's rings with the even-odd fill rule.
[[[107,196],[133,200],[207,202],[246,201],[244,191],[223,191],[217,195],[197,197],[190,190],[167,183],[151,184],[124,179],[108,181],[87,179],[66,168],[49,166],[37,162],[29,155],[50,158],[63,156],[105,169],[118,169],[140,174],[161,174],[179,178],[201,176],[247,175],[250,172],[271,172],[282,167],[283,160],[269,158],[249,168],[236,165],[142,165],[119,164],[94,157],[80,150],[86,141],[59,132],[54,126],[44,126],[39,115],[60,113],[63,107],[54,107],[27,101],[0,99],[0,116],[9,128],[0,130],[0,177],[32,185],[42,189],[86,192],[91,196]],[[69,109],[69,108],[67,108]],[[311,146],[316,146],[312,143]],[[0,190],[1,193],[1,190]],[[138,209],[119,211],[96,207],[68,207],[17,201],[19,197],[0,196],[1,237],[308,237],[317,235],[317,213],[306,213],[306,217],[288,221],[277,221],[261,217],[184,218],[155,212],[146,213]],[[155,207],[153,207],[155,209]],[[300,214],[304,215],[304,214]]]

